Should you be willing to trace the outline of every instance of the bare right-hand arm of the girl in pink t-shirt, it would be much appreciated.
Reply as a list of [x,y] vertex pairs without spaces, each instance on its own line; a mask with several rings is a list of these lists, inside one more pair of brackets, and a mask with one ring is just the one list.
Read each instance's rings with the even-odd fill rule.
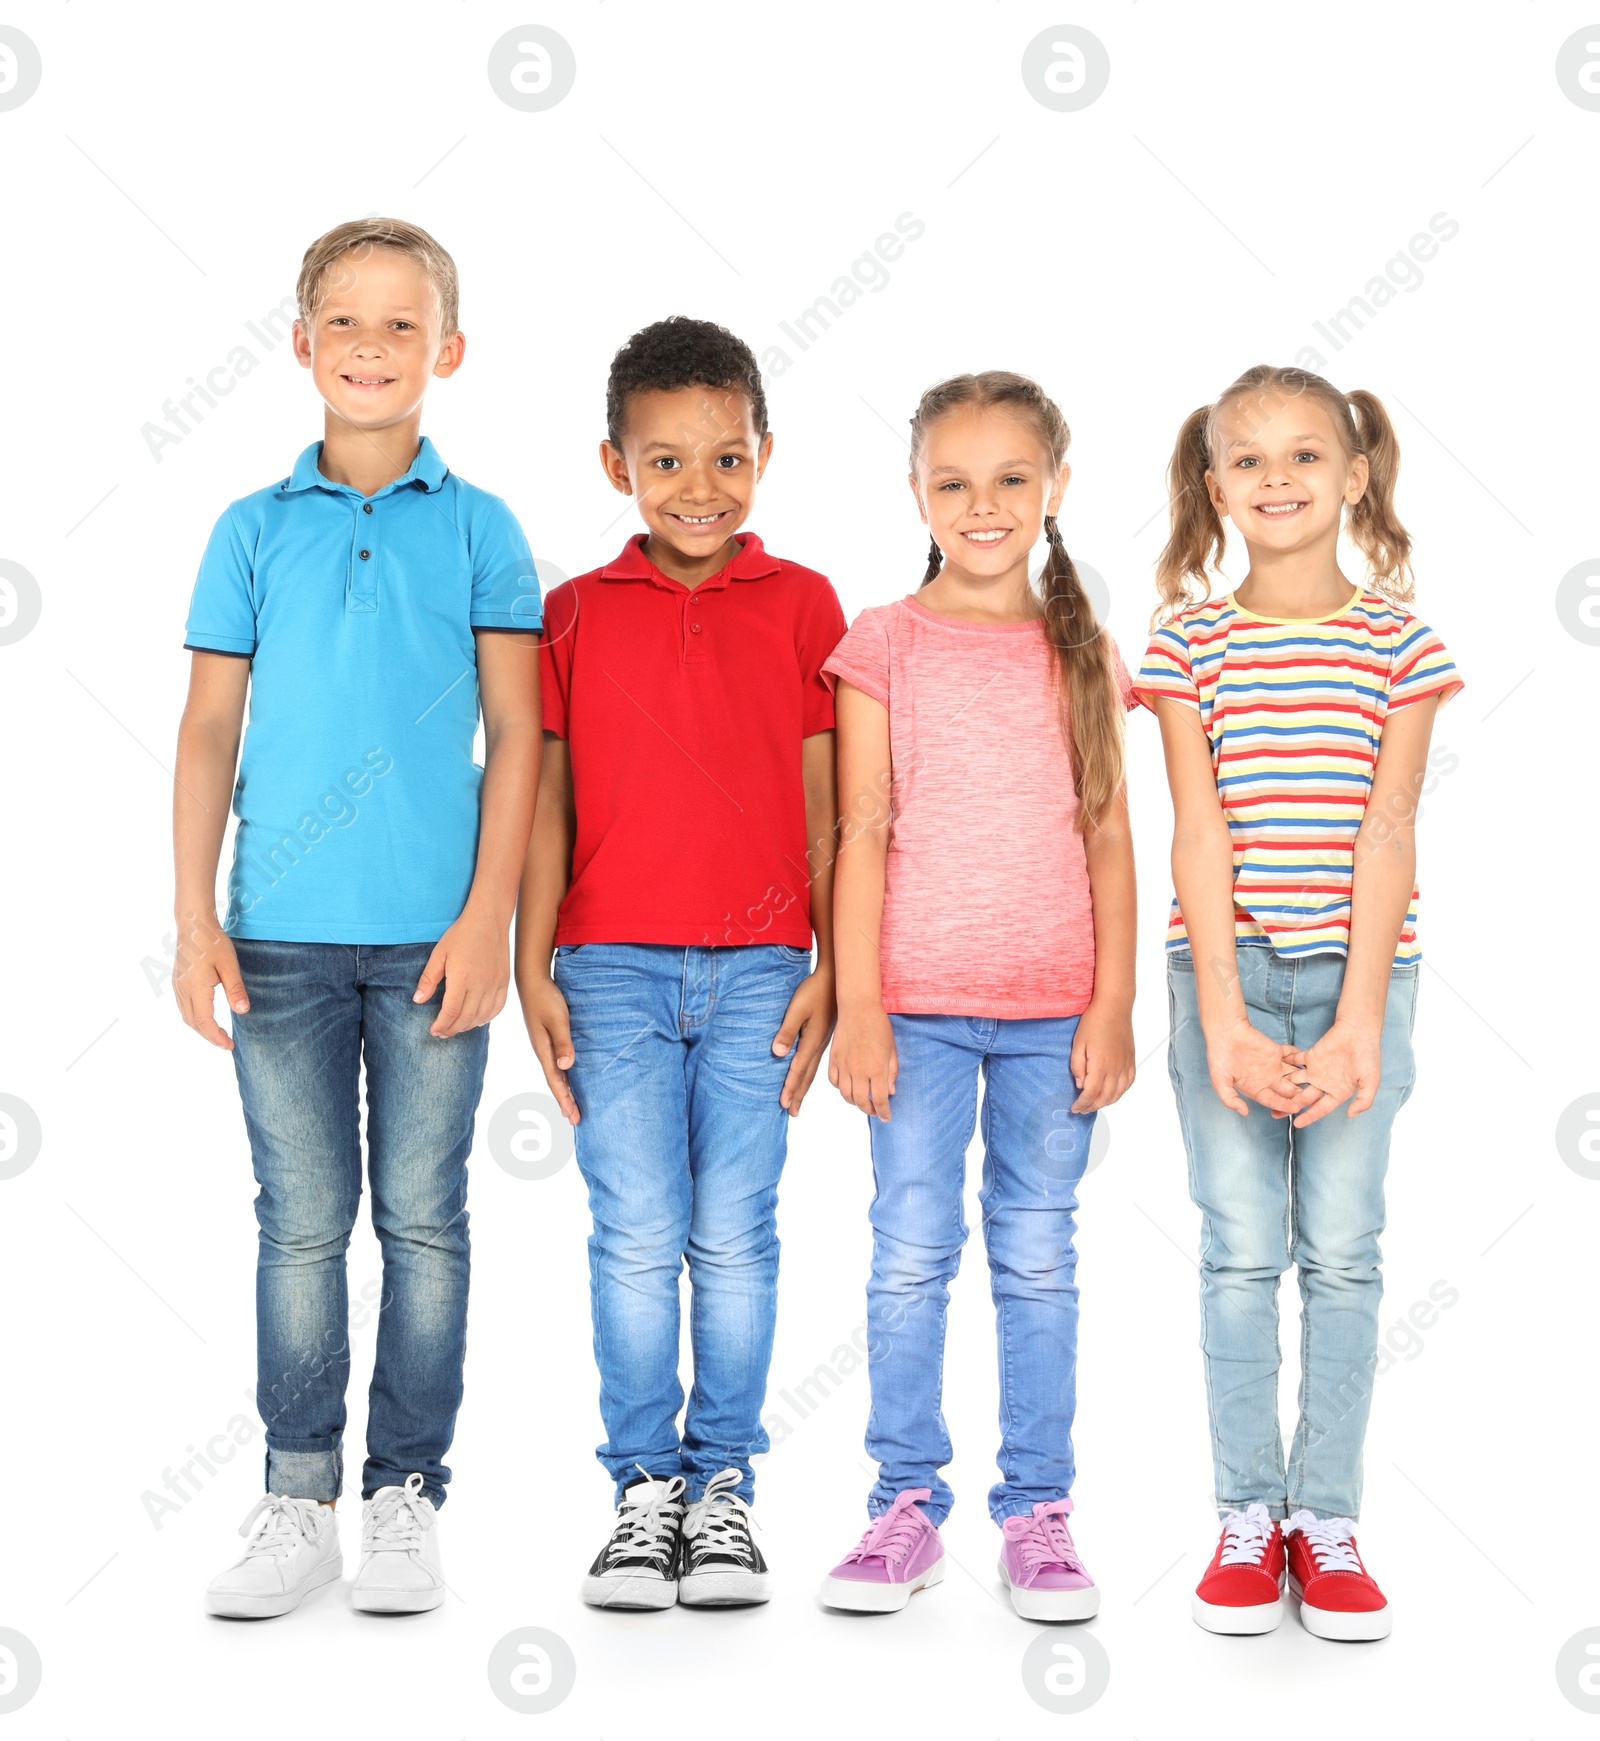
[[1074,1112],[1111,1106],[1133,1085],[1133,942],[1139,928],[1139,888],[1128,792],[1097,829],[1083,836],[1088,888],[1095,916],[1095,991],[1078,1018],[1072,1039]]

